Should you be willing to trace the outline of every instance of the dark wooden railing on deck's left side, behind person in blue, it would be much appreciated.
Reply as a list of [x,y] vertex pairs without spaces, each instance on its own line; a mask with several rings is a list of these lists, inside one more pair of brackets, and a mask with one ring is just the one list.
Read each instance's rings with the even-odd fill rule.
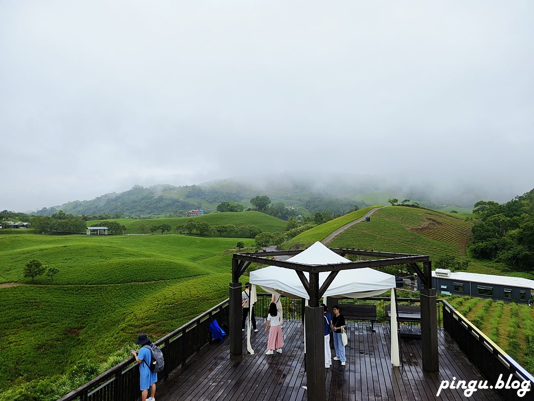
[[[229,299],[154,343],[161,348],[165,360],[163,372],[158,373],[159,381],[167,379],[171,372],[211,341],[209,323],[212,319],[219,325],[229,321]],[[122,361],[58,401],[135,401],[139,399],[140,391],[139,367],[134,363],[133,357]]]

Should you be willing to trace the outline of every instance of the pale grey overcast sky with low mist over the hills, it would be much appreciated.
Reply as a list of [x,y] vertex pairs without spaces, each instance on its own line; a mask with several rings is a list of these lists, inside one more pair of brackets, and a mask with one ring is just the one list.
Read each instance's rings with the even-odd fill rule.
[[534,188],[534,2],[0,1],[0,210],[283,171]]

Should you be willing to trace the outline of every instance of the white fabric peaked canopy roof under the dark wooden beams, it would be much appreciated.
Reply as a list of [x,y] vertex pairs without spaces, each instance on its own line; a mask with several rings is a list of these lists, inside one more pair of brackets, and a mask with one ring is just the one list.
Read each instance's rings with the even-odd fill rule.
[[[305,265],[329,265],[351,262],[349,259],[329,250],[316,242],[308,249],[287,259]],[[319,286],[322,286],[328,272],[319,273]],[[304,273],[309,277],[308,273]],[[268,266],[250,272],[250,283],[257,284],[267,292],[275,292],[289,297],[309,299],[308,292],[293,269]],[[340,271],[326,290],[325,297],[363,298],[382,294],[395,288],[395,276],[364,267]]]

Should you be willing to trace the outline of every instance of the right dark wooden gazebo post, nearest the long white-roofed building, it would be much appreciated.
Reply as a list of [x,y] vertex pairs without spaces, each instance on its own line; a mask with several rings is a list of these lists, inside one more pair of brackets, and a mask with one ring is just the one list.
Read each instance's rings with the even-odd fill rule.
[[425,288],[421,289],[421,348],[423,371],[439,371],[437,346],[436,289],[432,288],[432,263],[423,262],[426,277]]

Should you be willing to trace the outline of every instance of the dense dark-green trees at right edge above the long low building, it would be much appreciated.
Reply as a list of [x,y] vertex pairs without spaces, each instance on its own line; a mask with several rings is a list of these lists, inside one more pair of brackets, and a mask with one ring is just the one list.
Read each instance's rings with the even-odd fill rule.
[[532,271],[534,189],[504,204],[477,202],[473,214],[477,221],[468,247],[473,257],[504,263],[514,271]]

